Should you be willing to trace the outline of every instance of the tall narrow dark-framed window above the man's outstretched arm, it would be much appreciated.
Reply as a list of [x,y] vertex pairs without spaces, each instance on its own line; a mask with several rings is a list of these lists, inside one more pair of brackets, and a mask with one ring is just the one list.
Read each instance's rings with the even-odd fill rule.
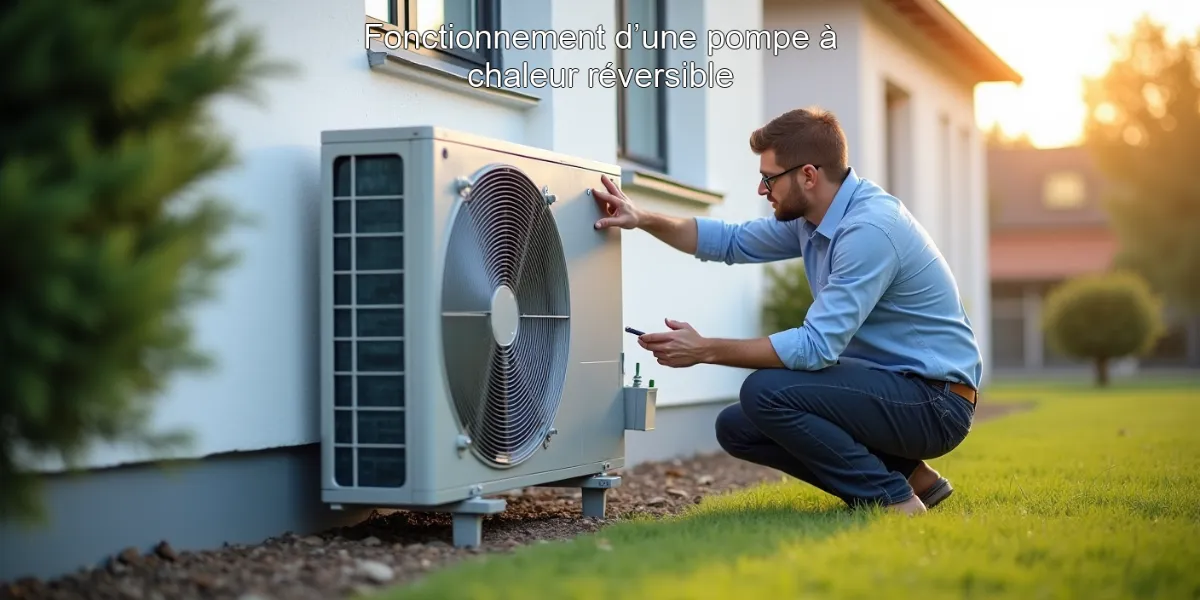
[[[630,30],[630,48],[618,49],[618,67],[628,70],[665,68],[662,49],[648,49],[642,43],[642,32],[650,32],[647,41],[654,44],[654,31],[665,30],[666,11],[664,0],[617,0],[617,24]],[[666,173],[666,88],[617,88],[617,144],[620,157],[643,167]]]

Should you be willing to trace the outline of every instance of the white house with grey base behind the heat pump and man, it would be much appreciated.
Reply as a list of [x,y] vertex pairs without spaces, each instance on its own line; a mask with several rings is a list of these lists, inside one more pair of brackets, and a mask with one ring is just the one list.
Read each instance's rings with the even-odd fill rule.
[[[972,88],[1016,80],[936,0],[226,0],[235,23],[298,74],[265,82],[264,104],[214,107],[241,164],[211,182],[258,223],[230,240],[244,254],[216,301],[194,317],[198,343],[217,362],[180,378],[163,395],[156,422],[197,438],[186,468],[164,473],[130,448],[96,448],[91,470],[59,475],[43,464],[50,522],[0,524],[0,578],[54,576],[121,548],[169,540],[178,550],[257,542],[360,517],[319,503],[318,264],[320,133],[326,130],[438,125],[496,139],[619,163],[626,193],[642,206],[679,216],[743,221],[766,216],[756,193],[758,160],[749,136],[784,110],[821,104],[838,113],[851,160],[863,176],[905,200],[929,228],[959,277],[980,340],[986,252],[983,138]],[[367,40],[368,24],[508,31],[594,31],[620,19],[642,29],[691,30],[695,49],[534,48],[503,53],[389,49]],[[821,49],[821,32],[838,35]],[[769,52],[719,49],[706,31],[805,29],[810,47]],[[577,36],[580,37],[580,36]],[[680,66],[714,62],[728,88],[628,90],[589,86],[476,88],[472,68],[577,67],[608,62]],[[599,181],[598,181],[599,185]],[[703,263],[642,232],[623,233],[626,323],[661,329],[690,322],[720,337],[763,335],[762,265]],[[797,324],[799,325],[799,324]],[[629,336],[626,362],[640,361],[659,395],[658,428],[628,438],[626,464],[718,448],[713,419],[736,401],[746,372],[697,366],[655,368]],[[647,368],[648,367],[648,368]],[[335,520],[335,517],[338,517]]]

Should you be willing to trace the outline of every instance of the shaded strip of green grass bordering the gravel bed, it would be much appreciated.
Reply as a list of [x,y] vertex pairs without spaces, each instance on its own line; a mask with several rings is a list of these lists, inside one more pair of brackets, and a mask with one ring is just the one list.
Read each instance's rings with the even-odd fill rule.
[[785,545],[865,527],[881,515],[818,503],[797,484],[774,484],[712,497],[674,517],[635,518],[569,541],[462,563],[376,598],[619,598],[636,594],[638,581],[768,557]]

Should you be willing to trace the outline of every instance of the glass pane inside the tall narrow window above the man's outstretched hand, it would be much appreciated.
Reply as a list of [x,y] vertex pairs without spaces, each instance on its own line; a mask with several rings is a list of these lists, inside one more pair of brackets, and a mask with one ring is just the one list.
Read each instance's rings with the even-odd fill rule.
[[[628,0],[626,18],[629,23],[641,25],[634,32],[629,50],[625,50],[625,68],[655,70],[659,67],[658,50],[642,47],[641,31],[654,31],[659,28],[658,2],[655,0]],[[622,90],[625,102],[625,152],[641,158],[659,160],[659,90],[630,85]]]

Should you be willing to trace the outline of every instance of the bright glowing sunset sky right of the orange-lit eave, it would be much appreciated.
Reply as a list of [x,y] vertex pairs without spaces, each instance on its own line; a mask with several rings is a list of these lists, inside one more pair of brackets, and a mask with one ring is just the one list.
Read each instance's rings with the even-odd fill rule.
[[1110,34],[1127,32],[1141,13],[1175,35],[1200,30],[1198,0],[942,0],[1025,83],[985,84],[976,94],[979,126],[1000,122],[1028,132],[1034,145],[1074,143],[1084,119],[1082,77],[1111,59]]

